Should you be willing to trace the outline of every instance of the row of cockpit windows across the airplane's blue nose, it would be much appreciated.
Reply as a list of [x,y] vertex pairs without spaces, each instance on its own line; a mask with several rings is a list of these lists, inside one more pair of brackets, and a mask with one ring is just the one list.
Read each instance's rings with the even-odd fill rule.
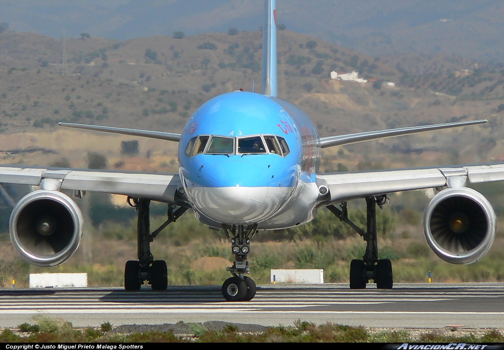
[[276,135],[243,137],[200,135],[191,138],[185,148],[187,157],[202,153],[228,156],[230,154],[276,154],[285,157],[290,153],[290,150],[285,139]]

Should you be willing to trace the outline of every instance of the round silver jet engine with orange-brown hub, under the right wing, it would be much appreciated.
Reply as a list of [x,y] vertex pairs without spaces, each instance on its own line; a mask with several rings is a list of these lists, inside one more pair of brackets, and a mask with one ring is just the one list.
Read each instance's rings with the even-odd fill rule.
[[423,232],[432,251],[452,264],[484,256],[495,238],[496,218],[488,200],[472,188],[437,193],[423,213]]

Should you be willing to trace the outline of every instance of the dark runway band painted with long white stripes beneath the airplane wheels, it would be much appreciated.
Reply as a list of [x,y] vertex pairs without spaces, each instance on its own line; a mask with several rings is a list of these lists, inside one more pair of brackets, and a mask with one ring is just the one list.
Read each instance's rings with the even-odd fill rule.
[[[122,289],[33,289],[33,290],[3,290],[0,291],[1,314],[30,314],[30,313],[239,313],[254,311],[259,313],[298,313],[306,314],[422,314],[422,315],[457,315],[460,312],[446,310],[439,311],[422,308],[422,303],[441,302],[460,303],[464,298],[503,297],[502,285],[496,287],[481,287],[477,285],[443,286],[407,285],[394,290],[349,290],[347,288],[333,288],[330,286],[264,286],[258,288],[258,294],[250,302],[230,303],[223,300],[217,287],[169,287],[166,292],[125,292]],[[426,288],[425,288],[426,287]],[[430,290],[436,288],[437,290]],[[411,291],[414,289],[415,291]],[[288,295],[286,295],[288,294]],[[397,304],[402,309],[374,311],[369,310],[372,305]],[[365,307],[366,310],[341,310],[345,305]],[[331,307],[338,308],[331,310]],[[416,310],[415,310],[416,307]],[[319,308],[319,310],[313,310]],[[324,308],[324,310],[320,310]],[[279,310],[282,309],[282,310]],[[329,310],[328,310],[329,309]],[[464,315],[499,315],[504,317],[502,310],[485,310],[480,312],[464,311]]]

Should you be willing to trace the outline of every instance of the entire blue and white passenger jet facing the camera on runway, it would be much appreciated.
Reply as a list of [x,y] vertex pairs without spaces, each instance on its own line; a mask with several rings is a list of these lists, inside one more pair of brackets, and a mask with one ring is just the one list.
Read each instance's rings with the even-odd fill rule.
[[[178,173],[124,172],[28,166],[0,167],[0,182],[39,186],[14,207],[10,236],[29,263],[51,267],[66,261],[82,237],[83,215],[76,204],[87,191],[122,194],[137,212],[138,260],[124,268],[124,289],[167,289],[167,264],[155,260],[150,243],[187,209],[204,225],[223,230],[235,261],[222,284],[226,301],[250,301],[256,283],[247,274],[251,241],[259,230],[280,230],[310,222],[327,208],[366,242],[362,259],[350,263],[350,289],[393,288],[392,263],[377,249],[376,206],[389,194],[434,189],[423,230],[429,247],[452,264],[470,264],[490,249],[496,216],[490,202],[470,184],[504,180],[504,163],[320,173],[322,150],[387,137],[487,120],[451,122],[320,137],[310,118],[278,97],[276,1],[265,0],[261,93],[243,90],[201,105],[181,133],[59,123],[90,131],[150,137],[178,143]],[[72,197],[63,191],[73,191]],[[347,202],[365,199],[366,227],[348,218]],[[151,201],[166,203],[167,220],[150,232]]]

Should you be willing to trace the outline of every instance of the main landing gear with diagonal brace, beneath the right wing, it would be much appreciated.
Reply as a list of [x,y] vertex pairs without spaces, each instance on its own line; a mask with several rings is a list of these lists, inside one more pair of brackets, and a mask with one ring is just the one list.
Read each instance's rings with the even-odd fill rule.
[[366,251],[360,259],[350,263],[350,289],[365,289],[370,279],[374,280],[377,289],[392,289],[392,263],[389,259],[378,259],[376,240],[376,204],[382,206],[388,201],[386,195],[366,197],[366,232],[348,219],[347,203],[341,203],[341,209],[334,205],[327,208],[341,221],[350,225],[366,241]]

